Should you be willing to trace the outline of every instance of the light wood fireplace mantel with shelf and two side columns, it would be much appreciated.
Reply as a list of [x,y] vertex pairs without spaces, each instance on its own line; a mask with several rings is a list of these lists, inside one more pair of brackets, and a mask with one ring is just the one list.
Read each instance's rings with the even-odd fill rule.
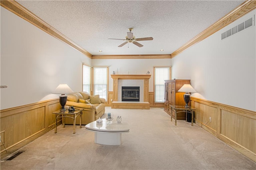
[[113,78],[113,102],[118,101],[118,79],[144,80],[144,102],[148,102],[148,80],[150,77],[150,74],[111,74],[111,78]]

